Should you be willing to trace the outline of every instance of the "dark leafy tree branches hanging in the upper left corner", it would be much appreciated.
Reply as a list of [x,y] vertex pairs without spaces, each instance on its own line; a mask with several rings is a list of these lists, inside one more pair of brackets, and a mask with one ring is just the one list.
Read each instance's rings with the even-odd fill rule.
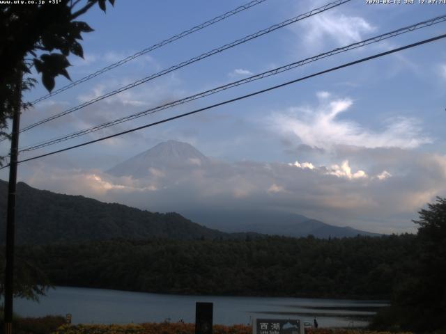
[[[12,1],[11,1],[12,2]],[[54,78],[63,75],[70,79],[67,57],[83,57],[79,40],[82,33],[93,31],[77,18],[98,3],[106,10],[106,0],[61,0],[59,3],[8,4],[0,6],[0,137],[7,136],[8,118],[17,104],[15,92],[20,81],[17,71],[41,74],[43,86],[51,91]],[[114,0],[109,0],[114,5]],[[23,88],[33,81],[24,80]]]

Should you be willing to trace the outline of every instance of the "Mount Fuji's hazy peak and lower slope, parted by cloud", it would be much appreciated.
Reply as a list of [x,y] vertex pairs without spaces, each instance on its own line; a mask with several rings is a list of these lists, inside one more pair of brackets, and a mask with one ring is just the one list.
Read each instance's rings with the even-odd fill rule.
[[[201,177],[205,175],[206,182],[203,182],[203,178],[199,179],[201,183],[206,184],[204,189],[208,191],[215,188],[216,199],[210,201],[213,205],[197,202],[194,207],[188,208],[179,207],[179,204],[176,207],[173,203],[169,209],[187,216],[196,223],[224,232],[258,232],[289,237],[306,237],[312,234],[319,238],[355,237],[358,234],[380,235],[355,230],[348,226],[329,225],[292,212],[266,208],[244,209],[242,207],[240,209],[240,206],[235,208],[219,202],[220,188],[225,187],[226,190],[230,190],[231,186],[238,186],[239,180],[234,175],[240,175],[240,166],[242,166],[240,164],[244,163],[228,164],[210,159],[189,143],[166,141],[123,161],[107,170],[106,173],[115,177],[129,176],[139,180],[156,179],[157,182],[161,182],[158,184],[158,189],[170,189],[171,193],[175,194],[175,187],[182,184],[181,182],[183,182],[183,191],[185,191],[184,188],[187,189],[187,185],[194,186],[192,175],[194,173],[196,175],[199,170]],[[157,177],[157,175],[162,175],[162,177]],[[234,179],[236,182],[233,182]],[[240,182],[243,182],[243,179]],[[192,194],[188,197],[192,198]],[[208,200],[210,196],[202,197]],[[242,201],[243,199],[240,203]]]

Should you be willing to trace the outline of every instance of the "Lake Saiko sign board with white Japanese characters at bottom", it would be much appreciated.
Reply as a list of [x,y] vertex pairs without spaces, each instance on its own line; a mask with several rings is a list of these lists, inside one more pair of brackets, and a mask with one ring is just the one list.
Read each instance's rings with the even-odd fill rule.
[[253,319],[252,334],[304,334],[298,319]]

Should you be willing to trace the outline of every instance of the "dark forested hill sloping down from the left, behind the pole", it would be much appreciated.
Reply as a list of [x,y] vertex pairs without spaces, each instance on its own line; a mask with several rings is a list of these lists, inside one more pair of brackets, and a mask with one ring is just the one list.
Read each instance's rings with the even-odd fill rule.
[[[6,218],[8,182],[0,180],[0,217]],[[106,239],[236,239],[176,213],[159,214],[84,196],[69,196],[17,183],[17,244],[48,244]],[[6,224],[0,224],[4,244]],[[254,235],[254,234],[251,234]]]

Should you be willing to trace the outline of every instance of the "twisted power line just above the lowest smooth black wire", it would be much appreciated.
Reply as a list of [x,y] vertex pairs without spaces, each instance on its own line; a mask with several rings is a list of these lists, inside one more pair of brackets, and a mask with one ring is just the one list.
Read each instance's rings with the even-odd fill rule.
[[305,65],[307,63],[312,63],[314,61],[318,61],[319,59],[327,58],[329,56],[333,56],[334,54],[339,54],[341,52],[345,52],[345,51],[348,51],[348,50],[351,50],[351,49],[357,49],[359,47],[364,47],[364,46],[370,45],[372,43],[380,42],[381,40],[385,40],[387,38],[393,38],[393,37],[396,37],[397,35],[401,35],[403,33],[408,33],[410,31],[414,31],[414,30],[417,30],[417,29],[422,29],[422,28],[425,28],[426,26],[431,26],[433,24],[438,24],[440,22],[445,22],[445,21],[446,21],[446,15],[439,16],[439,17],[434,17],[432,19],[428,19],[426,21],[419,22],[417,24],[412,24],[410,26],[406,26],[406,27],[403,27],[403,28],[400,28],[400,29],[397,29],[397,30],[394,30],[394,31],[390,31],[389,33],[383,33],[381,35],[377,35],[377,36],[374,36],[372,38],[367,38],[366,40],[362,40],[360,42],[355,42],[355,43],[353,43],[351,45],[347,45],[345,47],[339,47],[337,49],[332,49],[331,51],[324,52],[322,54],[318,54],[317,56],[305,58],[305,59],[303,59],[301,61],[296,61],[294,63],[290,63],[288,65],[284,65],[282,67],[277,67],[277,68],[275,68],[273,70],[262,72],[260,74],[255,74],[255,75],[252,75],[251,77],[248,77],[248,78],[245,78],[245,79],[240,79],[238,81],[233,81],[233,82],[231,82],[229,84],[225,84],[225,85],[219,86],[217,88],[213,88],[213,89],[210,89],[210,90],[203,91],[201,93],[197,93],[197,94],[194,94],[194,95],[191,95],[191,96],[188,96],[188,97],[184,97],[183,99],[176,100],[174,102],[169,102],[167,104],[162,104],[160,106],[155,106],[155,107],[153,107],[151,109],[146,109],[145,111],[140,111],[139,113],[133,113],[130,116],[125,116],[125,117],[122,117],[122,118],[118,118],[118,119],[113,120],[111,122],[105,122],[105,123],[102,123],[101,125],[96,125],[94,127],[88,128],[88,129],[83,129],[83,130],[80,130],[80,131],[77,131],[77,132],[73,132],[73,133],[67,134],[65,136],[59,136],[57,138],[49,139],[47,141],[42,141],[40,143],[36,143],[36,144],[33,144],[33,145],[28,145],[28,146],[25,146],[23,148],[20,148],[19,152],[29,152],[29,151],[32,151],[32,150],[37,150],[39,148],[44,148],[44,147],[49,146],[49,145],[54,145],[56,143],[61,143],[63,141],[68,141],[69,139],[77,138],[79,136],[83,136],[83,135],[89,134],[91,132],[96,132],[96,131],[99,131],[100,129],[105,129],[107,127],[112,127],[114,125],[121,124],[122,122],[127,122],[129,120],[134,120],[135,118],[140,118],[142,116],[147,116],[147,115],[150,115],[152,113],[156,113],[158,111],[162,111],[164,109],[169,109],[169,108],[171,108],[173,106],[178,106],[180,104],[185,104],[187,102],[190,102],[190,101],[193,101],[193,100],[197,100],[197,99],[206,97],[208,95],[213,95],[213,94],[218,93],[218,92],[220,92],[222,90],[226,90],[226,89],[229,89],[229,88],[241,86],[241,85],[247,84],[247,83],[249,83],[251,81],[256,81],[256,80],[259,80],[259,79],[263,79],[265,77],[270,77],[270,76],[275,75],[275,74],[286,72],[286,71],[292,70],[295,67],[299,67],[299,66]]

